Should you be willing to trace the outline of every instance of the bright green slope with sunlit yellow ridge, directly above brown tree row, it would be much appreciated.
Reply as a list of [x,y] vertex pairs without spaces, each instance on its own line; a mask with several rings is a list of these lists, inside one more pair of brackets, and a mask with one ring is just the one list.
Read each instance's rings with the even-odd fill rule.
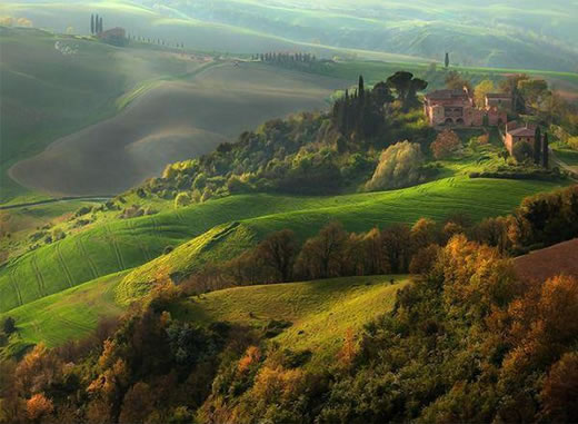
[[[366,231],[373,226],[385,227],[397,223],[412,224],[421,217],[441,221],[452,214],[467,214],[475,220],[507,215],[524,197],[538,191],[557,188],[556,184],[542,181],[468,179],[451,177],[395,191],[358,194],[318,198],[317,205],[307,205],[310,199],[260,195],[239,196],[239,205],[261,200],[290,201],[300,208],[282,213],[263,213],[241,219],[186,243],[168,255],[133,269],[118,287],[119,302],[130,303],[150,289],[158,273],[186,275],[208,262],[233,258],[243,249],[255,246],[267,234],[285,228],[296,231],[305,240],[332,220],[341,221],[348,230]],[[213,238],[219,235],[218,238]]]

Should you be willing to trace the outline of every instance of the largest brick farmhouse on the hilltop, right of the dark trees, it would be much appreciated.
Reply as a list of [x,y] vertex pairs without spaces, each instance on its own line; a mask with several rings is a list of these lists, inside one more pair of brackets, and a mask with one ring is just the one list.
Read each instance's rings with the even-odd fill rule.
[[477,108],[466,87],[461,90],[436,90],[426,96],[423,111],[432,127],[497,127],[505,124],[507,111],[488,100],[486,97],[485,108]]

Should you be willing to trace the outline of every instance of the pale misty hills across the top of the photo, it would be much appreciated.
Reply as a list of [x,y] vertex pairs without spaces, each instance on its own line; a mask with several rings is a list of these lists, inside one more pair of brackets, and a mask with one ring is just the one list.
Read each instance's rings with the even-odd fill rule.
[[[0,14],[36,27],[104,27],[199,50],[258,53],[307,48],[320,56],[441,60],[462,66],[578,70],[574,0],[138,0],[3,2]],[[393,53],[388,57],[383,53]],[[398,56],[399,55],[399,56]]]

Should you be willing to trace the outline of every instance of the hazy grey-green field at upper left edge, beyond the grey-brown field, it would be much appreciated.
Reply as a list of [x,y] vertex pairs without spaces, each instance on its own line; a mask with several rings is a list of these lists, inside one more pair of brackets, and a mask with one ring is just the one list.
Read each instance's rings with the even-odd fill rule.
[[7,176],[18,160],[114,116],[116,99],[142,81],[201,65],[168,51],[118,49],[36,29],[0,27],[0,203],[26,193]]

